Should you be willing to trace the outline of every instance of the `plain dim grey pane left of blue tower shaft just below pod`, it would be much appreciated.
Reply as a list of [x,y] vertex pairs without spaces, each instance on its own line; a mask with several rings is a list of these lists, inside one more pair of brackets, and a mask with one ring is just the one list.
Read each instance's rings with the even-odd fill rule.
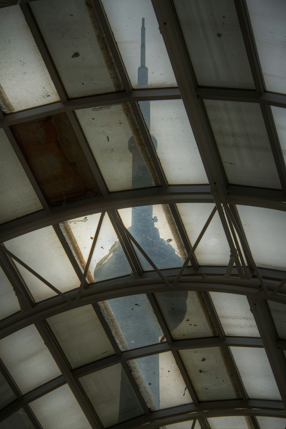
[[92,305],[49,317],[47,322],[72,368],[115,353]]

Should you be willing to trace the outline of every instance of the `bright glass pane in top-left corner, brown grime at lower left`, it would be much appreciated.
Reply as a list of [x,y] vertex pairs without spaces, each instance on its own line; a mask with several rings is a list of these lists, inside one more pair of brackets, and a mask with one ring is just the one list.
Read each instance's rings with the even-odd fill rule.
[[0,106],[3,112],[59,101],[20,6],[0,9],[0,38]]

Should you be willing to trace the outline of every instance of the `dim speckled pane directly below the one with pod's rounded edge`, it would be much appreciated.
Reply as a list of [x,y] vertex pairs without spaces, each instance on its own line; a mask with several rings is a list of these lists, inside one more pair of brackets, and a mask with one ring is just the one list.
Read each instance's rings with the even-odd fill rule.
[[179,353],[199,401],[240,396],[221,347],[180,350]]

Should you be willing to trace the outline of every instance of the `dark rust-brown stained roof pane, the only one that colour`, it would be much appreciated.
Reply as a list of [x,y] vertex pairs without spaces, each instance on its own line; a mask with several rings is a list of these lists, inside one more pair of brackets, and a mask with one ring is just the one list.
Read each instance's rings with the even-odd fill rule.
[[66,113],[11,130],[49,205],[101,195]]

